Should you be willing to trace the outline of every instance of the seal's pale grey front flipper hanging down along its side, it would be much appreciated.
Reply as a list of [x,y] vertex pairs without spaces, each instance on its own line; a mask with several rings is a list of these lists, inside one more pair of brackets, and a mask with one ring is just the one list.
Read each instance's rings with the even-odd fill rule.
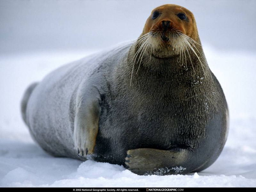
[[74,142],[78,156],[92,154],[96,144],[100,118],[100,94],[96,87],[83,84],[76,98]]

